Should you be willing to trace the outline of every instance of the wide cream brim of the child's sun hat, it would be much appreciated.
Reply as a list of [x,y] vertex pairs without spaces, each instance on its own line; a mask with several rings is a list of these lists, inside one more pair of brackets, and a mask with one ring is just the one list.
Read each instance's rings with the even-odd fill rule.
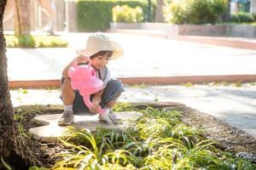
[[95,51],[90,51],[86,48],[84,49],[79,49],[77,50],[77,54],[84,54],[86,56],[91,56],[93,54],[98,53],[99,51],[113,51],[111,59],[119,59],[124,54],[124,49],[117,43],[113,41],[109,41],[111,44],[110,48],[101,48],[101,49],[96,49]]

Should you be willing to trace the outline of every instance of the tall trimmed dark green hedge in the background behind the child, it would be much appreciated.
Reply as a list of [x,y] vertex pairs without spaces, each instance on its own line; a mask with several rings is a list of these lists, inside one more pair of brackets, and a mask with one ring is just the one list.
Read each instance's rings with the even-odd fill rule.
[[[112,22],[112,8],[116,5],[128,5],[131,8],[137,6],[143,8],[143,14],[148,14],[147,0],[79,0],[77,1],[78,31],[106,31]],[[153,14],[149,20],[154,19]],[[145,17],[144,17],[145,18]]]

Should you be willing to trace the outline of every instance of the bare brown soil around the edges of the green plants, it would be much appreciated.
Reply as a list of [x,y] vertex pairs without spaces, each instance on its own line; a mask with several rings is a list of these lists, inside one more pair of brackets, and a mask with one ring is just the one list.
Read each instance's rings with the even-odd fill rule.
[[[154,108],[182,111],[182,122],[191,127],[204,129],[207,139],[218,142],[218,148],[230,151],[235,156],[241,156],[249,161],[256,162],[256,139],[236,127],[231,127],[229,124],[218,120],[216,117],[178,103],[134,103],[132,105],[138,109],[144,109],[146,108],[145,105],[150,105]],[[19,111],[26,113],[20,123],[27,132],[32,127],[40,126],[32,121],[34,116],[61,114],[63,110],[61,105],[27,105],[16,107],[15,113],[17,114]],[[44,143],[34,139],[29,139],[29,141],[32,152],[38,157],[38,164],[44,165],[44,167],[54,165],[54,162],[58,159],[55,155],[67,150],[58,143]]]

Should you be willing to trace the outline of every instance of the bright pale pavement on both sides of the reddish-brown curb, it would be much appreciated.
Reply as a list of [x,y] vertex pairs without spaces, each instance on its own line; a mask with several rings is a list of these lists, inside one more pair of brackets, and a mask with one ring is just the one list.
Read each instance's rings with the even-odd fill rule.
[[[76,56],[75,49],[83,47],[88,35],[86,33],[63,34],[62,37],[70,42],[70,48],[8,48],[9,81],[59,81],[62,69]],[[125,48],[125,55],[122,58],[109,63],[112,77],[169,77],[166,81],[172,82],[171,80],[177,77],[214,76],[216,79],[208,79],[207,82],[211,80],[222,82],[227,80],[225,76],[236,76],[236,80],[229,79],[229,81],[244,81],[241,79],[244,77],[250,77],[251,81],[256,81],[256,50],[178,42],[157,37],[113,33],[108,33],[108,35]],[[188,82],[193,82],[193,79],[189,80]],[[201,82],[204,80],[206,79],[201,79]],[[127,87],[122,100],[160,99],[181,102],[199,111],[217,116],[256,136],[255,86],[208,88],[201,85],[195,87],[158,86],[136,89]],[[19,97],[17,93],[17,90],[11,91],[14,105],[26,105],[27,95],[22,94]],[[49,91],[48,97],[45,96],[48,95],[45,90],[43,92],[34,90],[33,93],[29,91],[32,96],[28,99],[32,99],[34,104],[45,104],[45,102],[61,104],[58,99],[60,94],[58,90]],[[38,96],[40,96],[39,100],[37,100]]]

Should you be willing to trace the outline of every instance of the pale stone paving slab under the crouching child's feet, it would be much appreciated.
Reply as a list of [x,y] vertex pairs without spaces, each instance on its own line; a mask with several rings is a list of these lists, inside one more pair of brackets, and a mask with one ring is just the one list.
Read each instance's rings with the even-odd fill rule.
[[[136,121],[143,113],[137,111],[123,111],[114,113],[117,118],[120,119],[119,124],[110,125],[108,122],[102,122],[98,119],[98,115],[92,115],[84,113],[83,116],[74,116],[74,123],[72,126],[79,129],[86,128],[90,130],[96,130],[96,128],[110,128],[110,129],[125,129],[131,126],[132,121]],[[33,121],[38,124],[43,124],[42,127],[34,127],[29,130],[34,139],[38,139],[44,142],[57,142],[58,138],[65,133],[67,127],[58,126],[58,120],[61,114],[54,115],[41,115],[34,117]]]

